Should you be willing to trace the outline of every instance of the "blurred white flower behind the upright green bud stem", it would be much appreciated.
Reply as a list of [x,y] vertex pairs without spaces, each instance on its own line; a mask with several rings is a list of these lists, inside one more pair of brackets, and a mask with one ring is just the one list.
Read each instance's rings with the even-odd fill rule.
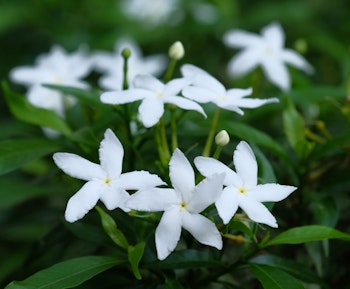
[[127,80],[132,86],[132,80],[137,74],[152,74],[158,76],[165,70],[167,59],[165,55],[151,55],[143,57],[138,45],[131,39],[122,39],[115,44],[113,53],[97,52],[93,56],[96,70],[103,72],[99,84],[106,90],[122,90],[124,77],[123,49],[130,49],[128,58]]

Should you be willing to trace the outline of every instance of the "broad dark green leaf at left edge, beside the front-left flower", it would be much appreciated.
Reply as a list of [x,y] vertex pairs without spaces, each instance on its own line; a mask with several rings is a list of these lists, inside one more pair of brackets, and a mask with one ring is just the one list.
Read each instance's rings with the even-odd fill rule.
[[15,139],[0,141],[0,174],[56,152],[60,146],[46,139]]

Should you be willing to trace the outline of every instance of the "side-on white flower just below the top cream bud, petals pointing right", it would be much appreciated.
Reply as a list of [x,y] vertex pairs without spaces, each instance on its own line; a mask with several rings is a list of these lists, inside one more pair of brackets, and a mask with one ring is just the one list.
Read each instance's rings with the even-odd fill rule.
[[226,90],[216,78],[191,64],[183,65],[181,72],[184,78],[192,83],[191,86],[182,90],[182,94],[199,103],[213,102],[223,109],[243,115],[241,108],[256,108],[267,103],[278,102],[277,98],[244,98],[252,93],[252,88]]

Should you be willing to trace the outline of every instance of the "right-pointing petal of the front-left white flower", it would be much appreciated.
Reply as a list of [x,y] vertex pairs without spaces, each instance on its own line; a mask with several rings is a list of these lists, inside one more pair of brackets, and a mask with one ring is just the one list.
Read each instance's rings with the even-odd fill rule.
[[165,185],[160,177],[147,171],[133,171],[121,174],[118,181],[125,190],[142,190]]

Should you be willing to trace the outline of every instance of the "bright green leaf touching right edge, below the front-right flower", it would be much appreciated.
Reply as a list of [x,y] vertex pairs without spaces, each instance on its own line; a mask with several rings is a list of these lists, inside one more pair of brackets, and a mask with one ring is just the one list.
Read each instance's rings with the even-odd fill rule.
[[264,247],[281,244],[302,244],[326,239],[350,241],[350,234],[326,226],[309,225],[289,229],[267,242]]

